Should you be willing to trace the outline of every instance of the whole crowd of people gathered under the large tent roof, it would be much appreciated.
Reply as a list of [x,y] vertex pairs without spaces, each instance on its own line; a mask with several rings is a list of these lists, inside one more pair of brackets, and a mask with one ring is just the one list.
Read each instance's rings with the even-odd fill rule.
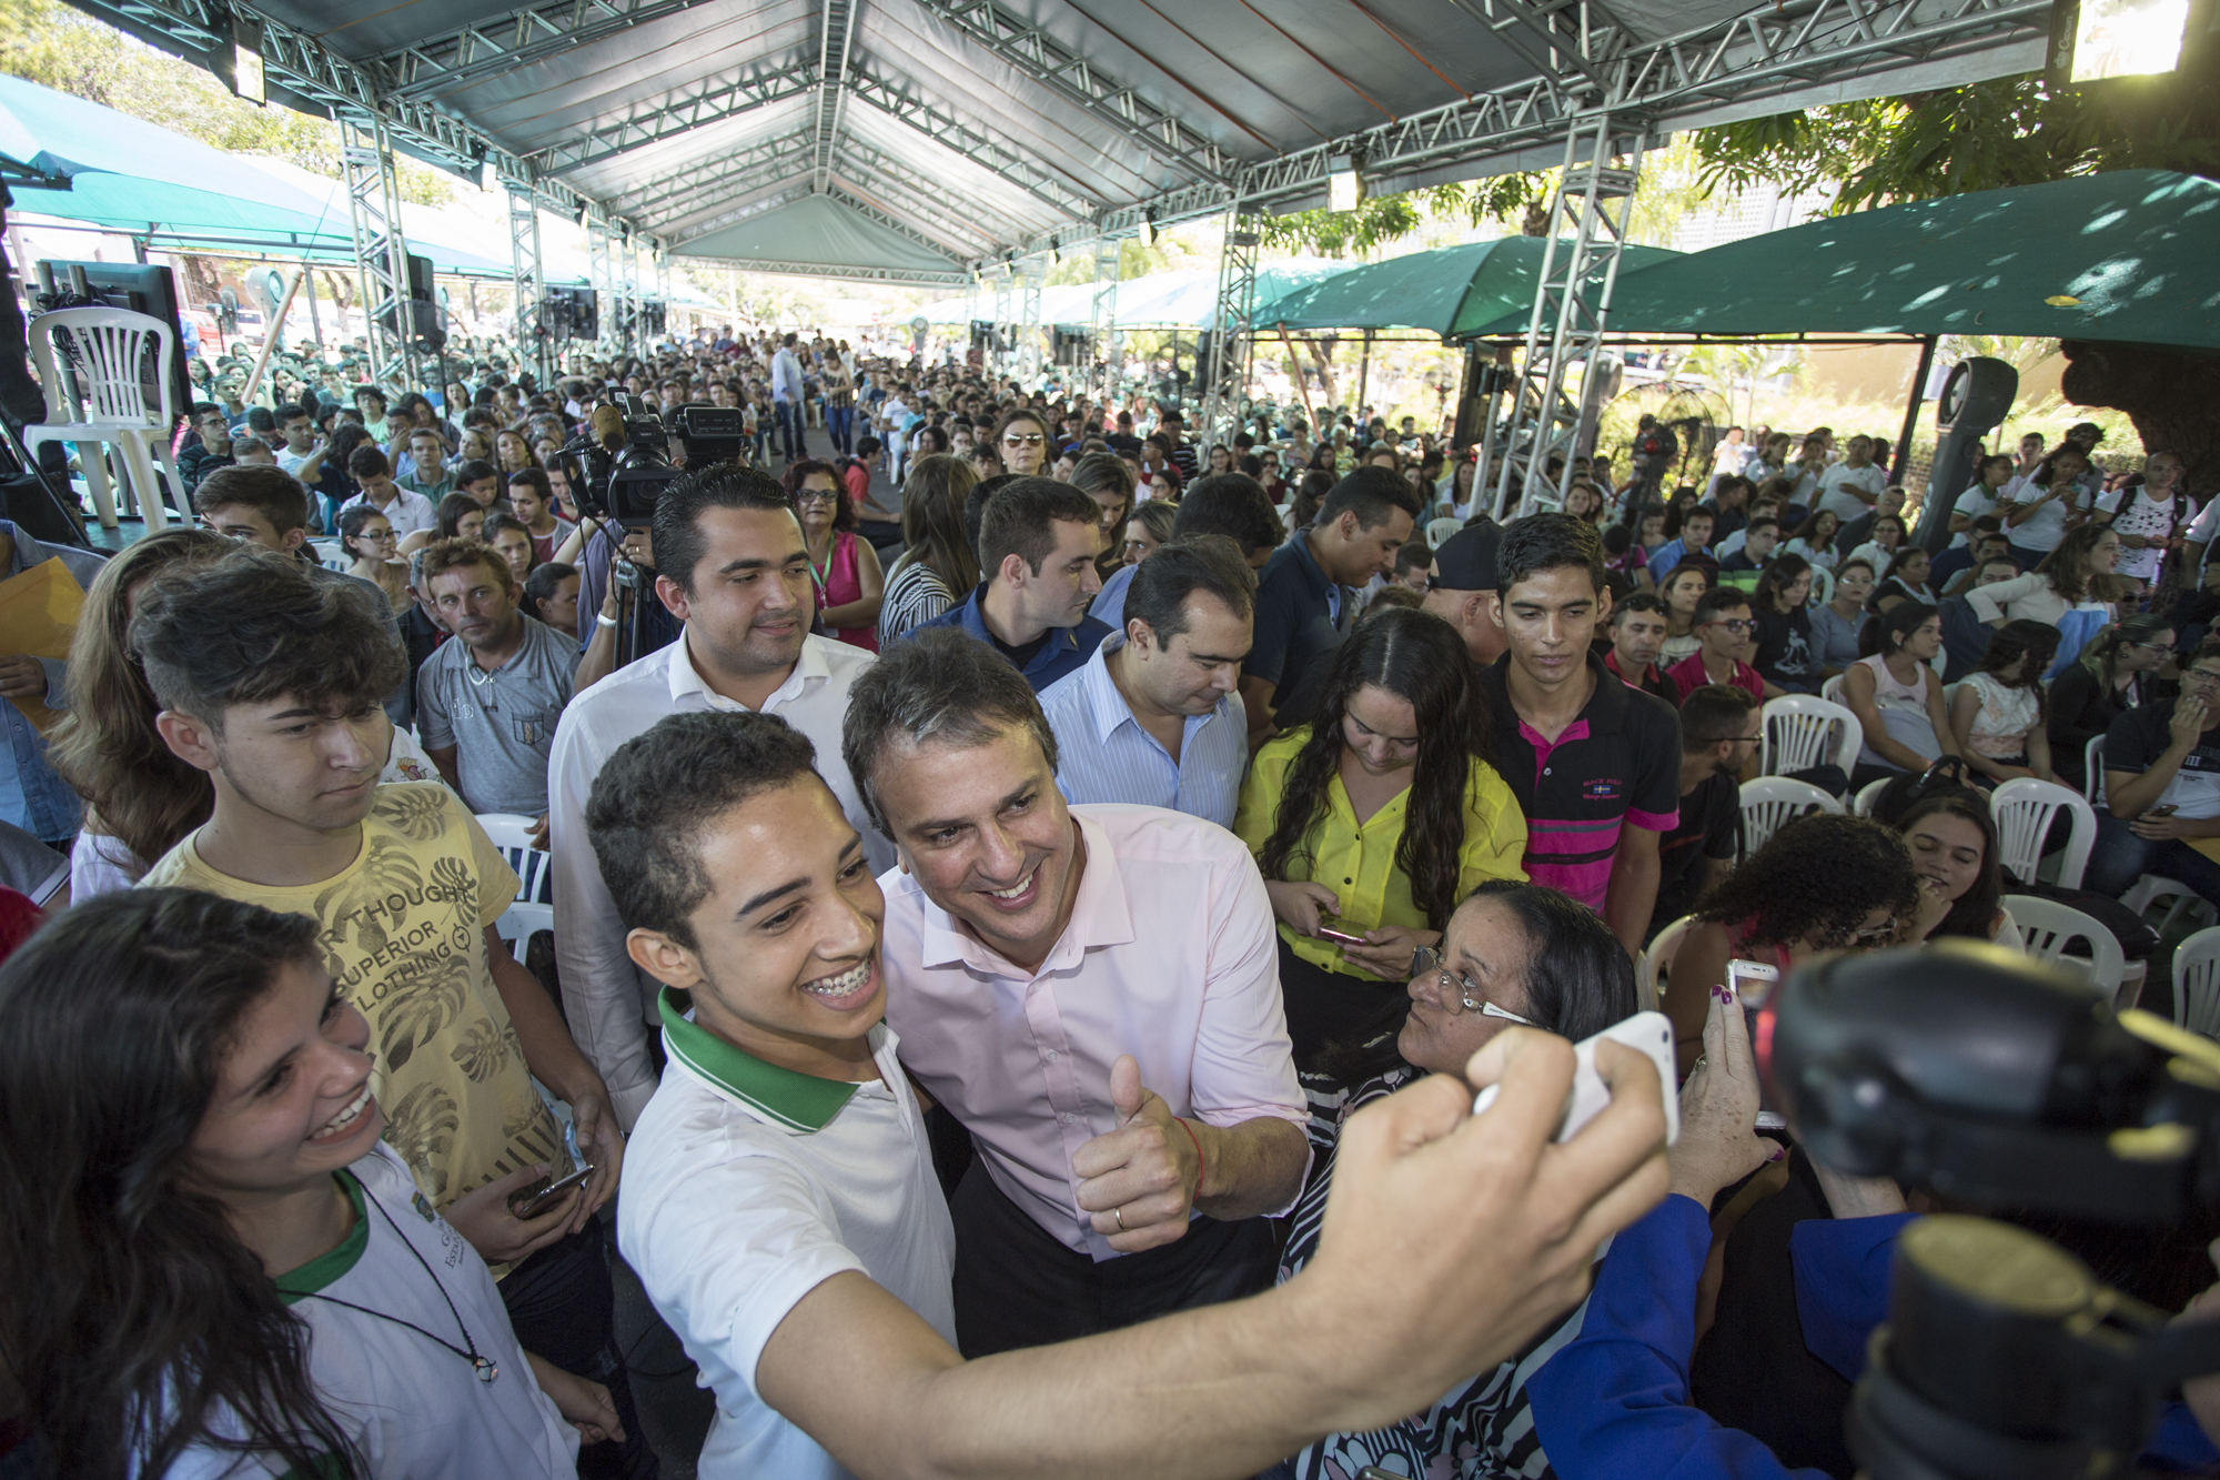
[[[797,333],[460,373],[220,373],[195,527],[0,524],[84,593],[0,658],[0,1476],[653,1476],[619,1258],[704,1476],[1847,1476],[1929,1204],[1758,1133],[1727,964],[2016,947],[1987,789],[2087,756],[2089,887],[2220,900],[2211,516],[2093,427],[1929,558],[1829,429],[1503,518],[1410,418],[1197,444]],[[744,456],[610,518],[626,396]],[[1823,689],[1805,780],[1889,802],[1738,862]],[[1605,1047],[1554,1144],[1674,922],[1678,1142]]]

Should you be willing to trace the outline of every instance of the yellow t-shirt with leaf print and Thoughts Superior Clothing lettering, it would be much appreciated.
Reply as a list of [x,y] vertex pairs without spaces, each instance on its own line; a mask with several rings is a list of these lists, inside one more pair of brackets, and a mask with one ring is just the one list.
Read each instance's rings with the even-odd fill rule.
[[191,833],[142,884],[204,889],[322,922],[324,969],[371,1022],[384,1140],[435,1207],[533,1162],[562,1176],[562,1131],[533,1089],[486,964],[484,927],[517,898],[517,876],[453,791],[382,784],[362,822],[362,853],[320,884],[218,873]]

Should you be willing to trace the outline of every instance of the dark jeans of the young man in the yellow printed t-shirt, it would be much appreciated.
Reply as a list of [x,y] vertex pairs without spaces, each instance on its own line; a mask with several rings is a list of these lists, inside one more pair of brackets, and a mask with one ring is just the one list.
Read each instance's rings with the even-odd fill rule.
[[624,1442],[579,1449],[588,1480],[655,1480],[659,1464],[633,1407],[633,1382],[617,1349],[617,1291],[608,1278],[608,1244],[599,1220],[533,1253],[500,1282],[517,1347],[542,1362],[599,1382],[624,1424]]

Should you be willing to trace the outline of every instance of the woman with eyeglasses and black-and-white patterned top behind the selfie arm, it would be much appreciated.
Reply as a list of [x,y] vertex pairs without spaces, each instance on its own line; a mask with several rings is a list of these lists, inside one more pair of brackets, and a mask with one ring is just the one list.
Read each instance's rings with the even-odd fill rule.
[[[1612,929],[1563,893],[1487,880],[1450,916],[1441,947],[1421,953],[1410,989],[1383,1020],[1332,1044],[1310,1098],[1312,1171],[1294,1204],[1279,1278],[1292,1280],[1319,1251],[1341,1131],[1365,1104],[1427,1073],[1461,1073],[1501,1033],[1523,1024],[1578,1042],[1634,1016],[1634,964]],[[1574,1309],[1518,1358],[1447,1391],[1430,1409],[1370,1433],[1330,1433],[1268,1480],[1328,1480],[1368,1467],[1410,1476],[1534,1476],[1545,1462],[1525,1416],[1525,1380],[1581,1329]]]

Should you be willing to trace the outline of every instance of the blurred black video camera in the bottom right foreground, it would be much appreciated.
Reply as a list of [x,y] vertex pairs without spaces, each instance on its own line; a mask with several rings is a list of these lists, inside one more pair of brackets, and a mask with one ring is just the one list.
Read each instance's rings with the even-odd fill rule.
[[[2167,1227],[2220,1207],[2220,1044],[1985,942],[1838,956],[1754,1013],[1805,1149],[1956,1204]],[[1896,1244],[1849,1447],[1874,1480],[2111,1476],[2220,1322],[2169,1324],[2027,1229],[1938,1213]]]

